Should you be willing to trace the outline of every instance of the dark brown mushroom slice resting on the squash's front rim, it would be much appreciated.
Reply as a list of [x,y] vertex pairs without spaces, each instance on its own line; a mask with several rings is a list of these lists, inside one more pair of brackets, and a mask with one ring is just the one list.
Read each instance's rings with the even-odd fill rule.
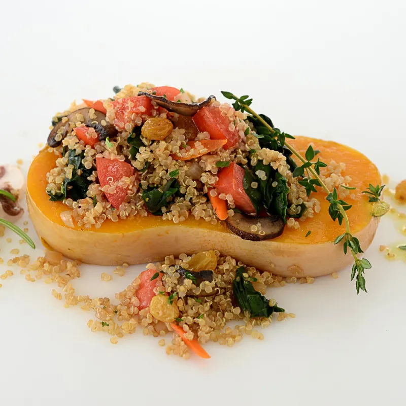
[[[226,224],[231,232],[243,240],[250,241],[272,240],[281,235],[285,228],[283,220],[279,216],[274,215],[269,217],[251,217],[241,213],[234,213],[233,216],[227,218]],[[252,231],[253,229],[256,231]]]

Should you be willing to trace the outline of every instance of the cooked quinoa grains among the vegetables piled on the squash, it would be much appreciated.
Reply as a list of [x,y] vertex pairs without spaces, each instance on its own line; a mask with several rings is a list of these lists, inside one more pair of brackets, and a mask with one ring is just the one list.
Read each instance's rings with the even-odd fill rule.
[[[150,83],[141,83],[137,86],[126,85],[114,96],[114,99],[104,100],[103,105],[107,113],[106,120],[102,120],[101,125],[112,124],[118,131],[117,137],[110,140],[109,143],[102,140],[94,145],[86,145],[78,138],[75,128],[84,125],[84,117],[78,113],[68,119],[67,115],[83,106],[73,103],[69,109],[55,115],[53,122],[61,120],[63,123],[69,124],[69,131],[63,140],[60,133],[55,136],[56,141],[61,141],[60,146],[49,148],[49,151],[59,157],[56,159],[56,166],[47,174],[46,190],[50,196],[57,196],[67,206],[62,218],[66,225],[72,227],[76,223],[79,227],[90,229],[101,227],[106,220],[117,222],[133,216],[145,217],[148,215],[148,208],[144,200],[144,193],[152,188],[162,190],[168,182],[172,182],[171,174],[174,173],[176,173],[174,177],[179,184],[179,193],[161,207],[159,214],[162,219],[177,224],[193,217],[196,220],[203,219],[211,224],[216,224],[219,220],[210,202],[209,193],[211,196],[217,195],[214,187],[219,180],[218,162],[235,162],[240,165],[250,163],[253,167],[258,161],[262,161],[264,165],[272,166],[275,171],[284,176],[289,188],[287,226],[290,228],[299,229],[300,221],[320,212],[320,202],[316,198],[309,197],[304,186],[298,183],[298,178],[293,177],[286,157],[278,151],[261,148],[258,138],[255,136],[255,128],[247,120],[247,115],[241,111],[235,111],[228,103],[220,103],[220,101],[212,99],[210,106],[219,108],[221,116],[226,118],[228,129],[238,134],[238,142],[230,149],[220,148],[210,153],[206,153],[208,150],[201,143],[203,140],[210,139],[208,132],[194,134],[192,139],[195,143],[191,148],[187,145],[191,138],[188,138],[190,128],[184,123],[185,120],[180,120],[177,113],[159,108],[154,100],[151,101],[152,109],[150,111],[146,111],[141,106],[137,113],[127,114],[123,117],[122,109],[132,111],[131,109],[134,107],[130,97],[137,96],[140,91],[151,93],[153,87]],[[175,99],[182,103],[196,101],[196,98],[188,92],[179,93]],[[92,114],[94,115],[95,111],[90,109],[90,117]],[[94,115],[94,117],[96,116]],[[128,143],[128,137],[130,134],[135,134],[151,118],[166,120],[166,124],[172,122],[168,127],[172,130],[167,135],[165,134],[163,139],[148,139],[140,136],[141,146],[137,153],[131,152],[132,147]],[[145,127],[142,128],[144,134]],[[93,140],[97,138],[97,133],[93,128],[87,130],[87,137]],[[201,155],[202,153],[204,155]],[[201,156],[195,157],[196,155]],[[82,169],[75,168],[72,163],[69,163],[72,156],[80,156]],[[174,159],[174,156],[193,158],[177,160]],[[129,163],[136,170],[135,175],[116,180],[111,177],[106,185],[101,186],[97,174],[97,158]],[[351,182],[350,177],[342,176],[344,170],[344,163],[332,161],[327,167],[321,169],[320,174],[330,191],[334,187],[339,190],[340,198],[349,195],[349,190],[341,188],[340,185],[348,185]],[[67,190],[70,190],[71,187],[70,181],[75,176],[82,176],[82,174],[86,174],[86,182],[89,182],[85,196],[77,200],[67,197]],[[259,180],[266,179],[264,171],[257,171],[256,176]],[[258,188],[258,182],[252,182],[251,187]],[[65,190],[66,188],[67,190]],[[106,197],[106,193],[114,195],[120,190],[124,190],[125,197],[119,207],[115,208]],[[235,208],[232,195],[220,193],[218,197],[227,202],[228,214],[231,216]],[[302,206],[306,208],[304,213]],[[301,213],[300,219],[293,218],[297,217],[299,213]],[[293,217],[289,218],[290,216]]]

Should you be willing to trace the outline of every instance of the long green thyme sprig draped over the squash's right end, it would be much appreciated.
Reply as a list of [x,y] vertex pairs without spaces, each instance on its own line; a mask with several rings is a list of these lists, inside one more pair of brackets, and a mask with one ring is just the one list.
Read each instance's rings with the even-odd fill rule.
[[[261,117],[261,115],[255,113],[255,111],[250,108],[250,105],[252,104],[252,98],[249,98],[249,96],[236,97],[234,94],[230,92],[221,92],[221,93],[223,94],[224,97],[235,100],[235,103],[232,105],[235,110],[241,110],[242,112],[247,112],[252,116],[254,116],[257,120],[259,120],[263,124],[263,126],[265,126],[269,130],[271,134],[273,134],[273,136],[276,139],[278,139],[280,135],[283,134],[279,130],[269,125]],[[305,157],[303,157],[298,151],[296,151],[296,149],[292,145],[286,142],[285,138],[286,137],[283,138],[283,145],[286,148],[288,148],[302,162],[302,165],[299,166],[298,171],[296,171],[296,173],[294,173],[293,176],[304,175],[304,170],[306,170],[308,173],[310,172],[314,179],[309,179],[310,178],[309,176],[309,178],[303,178],[303,180],[299,182],[302,182],[302,185],[306,188],[308,194],[310,194],[312,191],[315,191],[314,185],[322,187],[324,191],[327,193],[326,199],[330,203],[328,212],[332,220],[333,221],[338,220],[340,225],[342,224],[343,220],[345,221],[346,232],[342,235],[339,235],[335,239],[334,244],[339,244],[341,241],[344,240],[343,249],[345,254],[347,254],[347,250],[348,248],[350,248],[350,251],[354,257],[351,280],[353,280],[355,275],[357,274],[355,283],[357,294],[359,293],[360,290],[366,292],[365,278],[363,274],[365,269],[369,269],[371,267],[371,264],[367,259],[365,258],[359,259],[357,257],[357,254],[360,254],[363,251],[361,250],[358,239],[351,234],[350,222],[348,220],[348,216],[346,213],[347,210],[351,209],[351,205],[347,204],[344,200],[339,200],[337,190],[334,188],[333,192],[331,193],[327,188],[327,186],[325,185],[325,183],[321,180],[319,176],[320,167],[326,166],[326,164],[324,162],[320,162],[319,159],[317,162],[311,162],[316,155],[316,152],[313,150],[313,147],[309,146],[308,150],[306,151]],[[293,137],[290,136],[289,138]],[[319,151],[317,151],[317,153],[318,152]],[[316,180],[317,182],[311,183],[312,180],[313,181]],[[365,193],[371,195],[371,197],[369,197],[369,201],[378,201],[382,189],[383,186],[377,185],[374,188],[374,186],[369,185],[369,191],[365,191]]]

